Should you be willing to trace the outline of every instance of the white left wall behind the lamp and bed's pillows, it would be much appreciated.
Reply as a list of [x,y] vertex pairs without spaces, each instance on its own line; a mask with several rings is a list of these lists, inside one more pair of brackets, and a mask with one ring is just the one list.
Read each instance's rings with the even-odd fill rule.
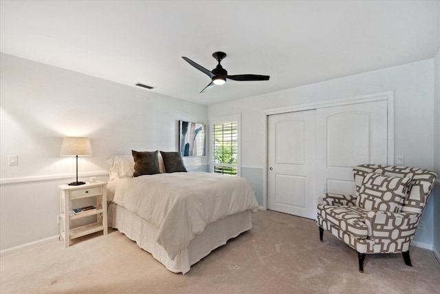
[[[72,182],[75,173],[74,158],[59,156],[64,136],[91,139],[93,156],[82,158],[78,169],[83,180],[107,180],[111,156],[176,151],[179,120],[208,122],[206,106],[154,90],[8,54],[1,54],[0,66],[1,250],[59,234],[58,185]],[[8,165],[8,155],[18,155],[19,165]],[[208,164],[206,157],[185,161],[190,170]]]

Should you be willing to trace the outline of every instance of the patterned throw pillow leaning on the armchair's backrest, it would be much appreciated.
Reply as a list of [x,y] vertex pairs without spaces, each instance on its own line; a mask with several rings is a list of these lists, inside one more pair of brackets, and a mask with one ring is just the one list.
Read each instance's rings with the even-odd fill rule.
[[358,207],[400,212],[411,178],[366,174],[359,189]]

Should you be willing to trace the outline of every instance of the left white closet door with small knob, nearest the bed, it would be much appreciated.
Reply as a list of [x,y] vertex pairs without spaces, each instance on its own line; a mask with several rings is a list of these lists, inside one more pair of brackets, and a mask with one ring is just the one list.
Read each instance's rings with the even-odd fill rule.
[[315,122],[315,110],[269,116],[268,209],[316,215]]

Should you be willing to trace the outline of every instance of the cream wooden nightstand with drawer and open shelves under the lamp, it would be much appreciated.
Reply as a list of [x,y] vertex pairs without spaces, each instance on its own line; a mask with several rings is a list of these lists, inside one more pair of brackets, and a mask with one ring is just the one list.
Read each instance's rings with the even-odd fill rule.
[[[64,246],[70,245],[70,240],[82,237],[90,233],[103,231],[107,235],[107,182],[96,181],[86,182],[85,185],[69,186],[59,185],[60,187],[60,215],[61,215],[61,238]],[[70,202],[81,198],[96,198],[96,210],[76,215],[70,207]],[[75,207],[72,204],[73,208]],[[70,220],[85,218],[96,215],[96,222],[84,226],[71,228]]]

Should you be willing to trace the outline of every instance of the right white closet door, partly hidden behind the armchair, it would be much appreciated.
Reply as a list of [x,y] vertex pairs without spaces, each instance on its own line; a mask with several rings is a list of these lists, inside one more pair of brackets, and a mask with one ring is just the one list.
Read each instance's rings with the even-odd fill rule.
[[353,167],[388,161],[387,101],[316,110],[316,192],[355,193]]

